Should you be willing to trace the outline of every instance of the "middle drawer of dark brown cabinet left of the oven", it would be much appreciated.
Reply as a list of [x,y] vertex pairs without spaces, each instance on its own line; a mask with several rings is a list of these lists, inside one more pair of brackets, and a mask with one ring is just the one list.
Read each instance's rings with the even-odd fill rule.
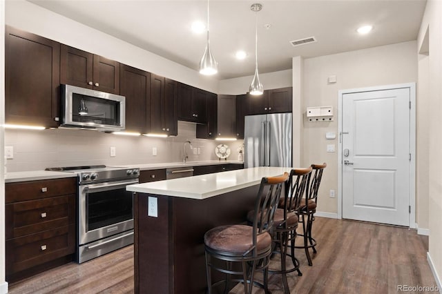
[[6,239],[75,224],[75,195],[6,204]]

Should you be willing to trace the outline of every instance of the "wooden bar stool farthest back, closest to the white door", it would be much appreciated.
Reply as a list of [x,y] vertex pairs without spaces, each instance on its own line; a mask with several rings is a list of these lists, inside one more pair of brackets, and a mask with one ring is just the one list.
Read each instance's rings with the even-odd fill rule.
[[305,198],[302,198],[300,203],[299,222],[302,223],[302,237],[304,237],[304,245],[295,246],[295,248],[304,248],[309,266],[313,264],[311,262],[309,248],[312,248],[313,252],[316,253],[316,240],[311,237],[311,227],[313,226],[313,221],[315,220],[314,213],[316,213],[316,205],[318,204],[318,190],[320,180],[323,177],[323,171],[326,166],[326,163],[311,164],[311,168],[313,168],[313,171],[311,172],[307,182],[307,188],[305,189]]

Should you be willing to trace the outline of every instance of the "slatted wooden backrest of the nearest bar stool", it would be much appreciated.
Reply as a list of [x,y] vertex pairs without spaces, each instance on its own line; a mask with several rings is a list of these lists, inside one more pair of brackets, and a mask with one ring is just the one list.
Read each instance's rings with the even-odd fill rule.
[[[253,217],[253,254],[256,254],[257,238],[262,233],[270,231],[273,226],[273,216],[278,206],[282,186],[287,184],[289,173],[277,177],[263,177],[255,202]],[[250,252],[249,251],[249,252]],[[247,254],[247,253],[244,253]]]

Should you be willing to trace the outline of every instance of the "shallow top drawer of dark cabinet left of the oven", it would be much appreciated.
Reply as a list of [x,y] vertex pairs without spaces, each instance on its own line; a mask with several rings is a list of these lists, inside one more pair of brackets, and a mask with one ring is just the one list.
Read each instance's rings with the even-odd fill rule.
[[41,199],[59,195],[75,194],[77,178],[46,179],[42,181],[8,183],[5,185],[6,204]]

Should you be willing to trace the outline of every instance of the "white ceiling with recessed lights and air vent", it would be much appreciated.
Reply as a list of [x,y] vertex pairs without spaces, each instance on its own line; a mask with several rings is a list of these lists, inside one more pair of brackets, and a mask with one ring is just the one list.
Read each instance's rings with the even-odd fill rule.
[[[157,55],[195,70],[206,35],[191,23],[206,23],[207,1],[30,0]],[[210,43],[219,63],[218,79],[253,75],[256,12],[259,72],[291,68],[291,57],[305,58],[415,40],[425,0],[211,0]],[[265,28],[269,23],[271,28]],[[369,35],[356,28],[371,24]],[[289,41],[315,37],[316,43],[293,47]],[[239,49],[248,52],[242,61]]]

